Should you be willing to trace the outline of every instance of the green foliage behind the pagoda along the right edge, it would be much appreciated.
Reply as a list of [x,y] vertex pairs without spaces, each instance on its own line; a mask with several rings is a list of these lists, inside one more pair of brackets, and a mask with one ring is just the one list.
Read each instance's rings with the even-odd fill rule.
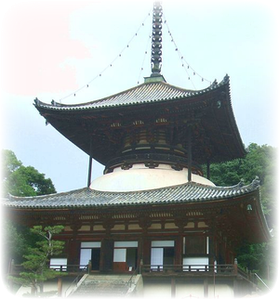
[[238,261],[243,267],[274,279],[278,275],[278,157],[278,148],[253,143],[247,148],[245,158],[214,164],[210,171],[211,180],[219,186],[234,185],[241,179],[249,184],[259,177],[263,210],[268,226],[274,229],[274,237],[267,243],[240,248]]

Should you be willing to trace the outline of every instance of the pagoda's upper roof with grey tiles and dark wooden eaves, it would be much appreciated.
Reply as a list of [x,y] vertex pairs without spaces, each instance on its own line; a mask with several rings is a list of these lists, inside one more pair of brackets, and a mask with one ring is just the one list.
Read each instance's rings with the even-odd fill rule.
[[35,106],[48,123],[103,165],[119,157],[127,132],[131,136],[138,129],[165,130],[185,146],[186,132],[193,126],[193,160],[198,164],[245,155],[231,106],[229,76],[199,91],[151,79],[84,104],[45,104],[36,99]]

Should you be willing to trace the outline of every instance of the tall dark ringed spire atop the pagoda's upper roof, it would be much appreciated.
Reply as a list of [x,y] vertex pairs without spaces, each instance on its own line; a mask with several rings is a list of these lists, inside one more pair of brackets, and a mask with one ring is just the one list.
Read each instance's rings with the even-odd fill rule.
[[163,0],[154,0],[151,45],[151,77],[160,75],[162,64]]

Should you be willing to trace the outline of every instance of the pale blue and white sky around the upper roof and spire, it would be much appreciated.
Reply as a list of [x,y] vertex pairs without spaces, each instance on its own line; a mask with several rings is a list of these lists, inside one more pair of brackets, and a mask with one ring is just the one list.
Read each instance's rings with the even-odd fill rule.
[[[51,178],[58,192],[86,186],[88,156],[46,126],[33,101],[83,103],[143,83],[151,74],[152,2],[22,1],[2,15],[0,148]],[[167,82],[203,89],[228,74],[245,146],[277,147],[274,9],[245,0],[163,0],[163,12]],[[92,179],[103,169],[94,161]]]

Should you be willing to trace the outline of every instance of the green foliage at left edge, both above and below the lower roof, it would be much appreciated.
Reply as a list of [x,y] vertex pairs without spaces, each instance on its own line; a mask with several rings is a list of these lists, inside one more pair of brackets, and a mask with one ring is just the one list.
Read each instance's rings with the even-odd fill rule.
[[[25,167],[10,150],[0,151],[0,197],[10,193],[16,196],[35,196],[55,193],[50,179],[35,168]],[[34,244],[29,229],[1,217],[1,271],[6,271],[9,259],[23,261],[28,246]]]

